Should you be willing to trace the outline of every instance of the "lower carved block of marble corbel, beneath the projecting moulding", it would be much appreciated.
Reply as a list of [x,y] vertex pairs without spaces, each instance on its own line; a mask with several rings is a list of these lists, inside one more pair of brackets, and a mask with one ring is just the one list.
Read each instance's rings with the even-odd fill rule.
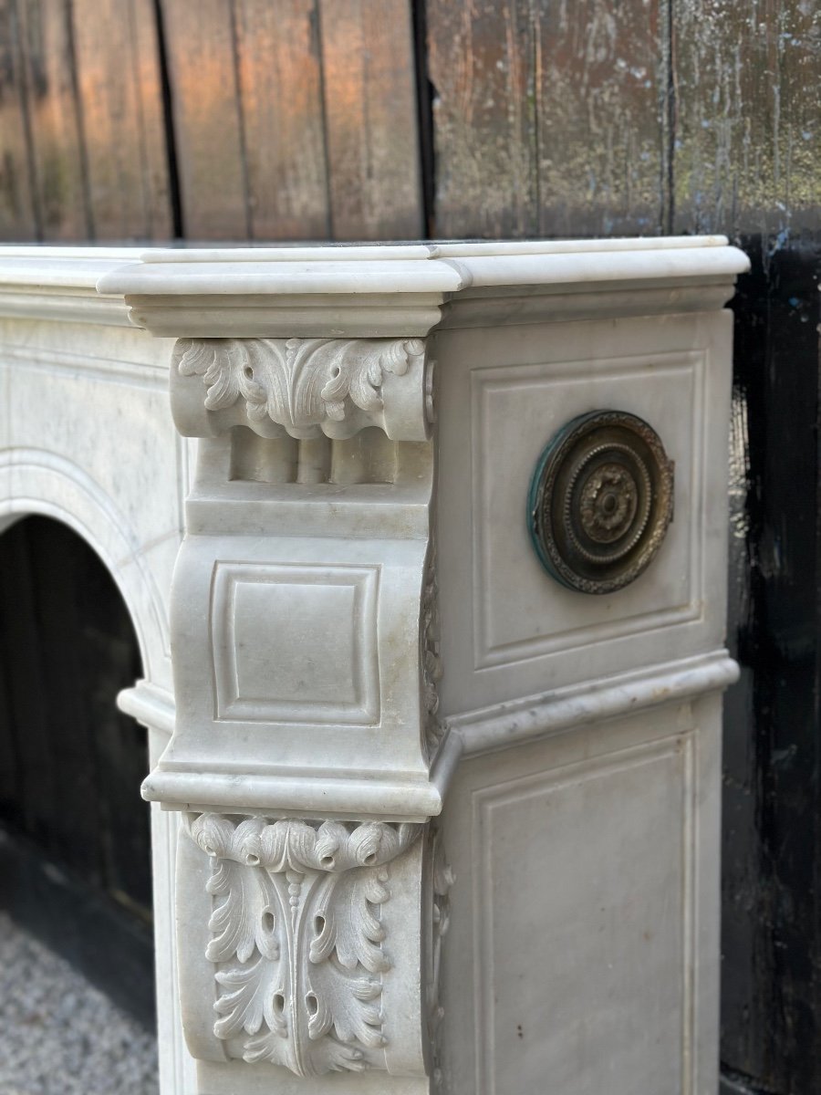
[[[211,969],[209,999],[206,979],[194,976],[183,1001],[195,1056],[299,1076],[433,1073],[452,875],[430,826],[187,820],[180,866],[204,883],[208,933],[196,954],[188,909],[180,949],[189,968]],[[183,886],[189,895],[192,880]]]

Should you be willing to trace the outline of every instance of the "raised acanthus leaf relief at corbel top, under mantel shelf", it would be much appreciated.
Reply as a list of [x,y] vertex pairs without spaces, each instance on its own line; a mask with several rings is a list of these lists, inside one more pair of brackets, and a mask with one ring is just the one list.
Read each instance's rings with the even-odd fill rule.
[[[404,377],[424,358],[421,338],[180,338],[172,368],[201,377],[207,411],[244,401],[246,425],[265,436],[346,437],[384,428],[385,376]],[[419,439],[426,422],[408,428]]]

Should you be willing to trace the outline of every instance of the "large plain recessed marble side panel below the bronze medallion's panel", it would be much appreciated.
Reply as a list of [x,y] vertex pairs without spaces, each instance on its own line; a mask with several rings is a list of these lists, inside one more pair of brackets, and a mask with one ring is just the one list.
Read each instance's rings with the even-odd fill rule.
[[474,799],[479,1095],[692,1095],[690,736]]

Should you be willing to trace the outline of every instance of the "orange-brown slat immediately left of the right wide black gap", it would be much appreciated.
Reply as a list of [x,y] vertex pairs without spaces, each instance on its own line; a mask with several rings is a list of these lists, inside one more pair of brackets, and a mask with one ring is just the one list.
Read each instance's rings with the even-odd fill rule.
[[320,0],[332,231],[424,230],[409,0]]

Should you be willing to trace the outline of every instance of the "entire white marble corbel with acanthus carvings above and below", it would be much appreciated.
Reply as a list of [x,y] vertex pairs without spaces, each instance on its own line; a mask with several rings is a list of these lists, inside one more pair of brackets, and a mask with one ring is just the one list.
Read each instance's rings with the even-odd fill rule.
[[270,1065],[435,1076],[451,876],[431,818],[460,745],[438,716],[426,342],[184,337],[171,364],[203,440],[175,728],[144,794],[187,817],[188,1048],[238,1090]]

